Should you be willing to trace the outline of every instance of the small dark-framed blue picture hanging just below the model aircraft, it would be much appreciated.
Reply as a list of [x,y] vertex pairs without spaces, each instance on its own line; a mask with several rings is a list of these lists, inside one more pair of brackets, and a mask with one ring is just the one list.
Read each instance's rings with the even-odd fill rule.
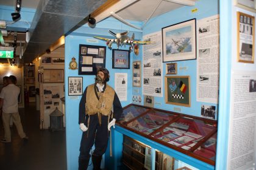
[[112,50],[112,69],[130,69],[129,50]]

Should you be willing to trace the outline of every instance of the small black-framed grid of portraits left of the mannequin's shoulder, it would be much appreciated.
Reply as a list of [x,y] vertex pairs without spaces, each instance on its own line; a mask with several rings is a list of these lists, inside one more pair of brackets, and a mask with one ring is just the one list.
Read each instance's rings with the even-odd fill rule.
[[83,94],[83,77],[68,77],[68,95]]

